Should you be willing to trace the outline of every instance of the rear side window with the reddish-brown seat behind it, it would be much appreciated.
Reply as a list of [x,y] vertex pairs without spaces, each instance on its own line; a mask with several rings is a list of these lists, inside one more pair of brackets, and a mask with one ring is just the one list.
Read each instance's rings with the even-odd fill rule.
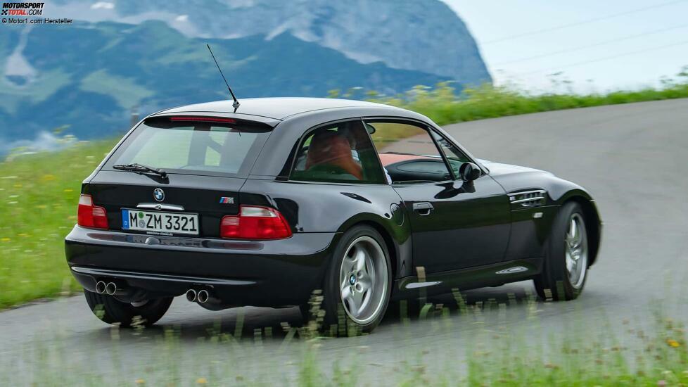
[[339,122],[307,134],[296,153],[290,178],[311,182],[386,182],[375,148],[359,120]]

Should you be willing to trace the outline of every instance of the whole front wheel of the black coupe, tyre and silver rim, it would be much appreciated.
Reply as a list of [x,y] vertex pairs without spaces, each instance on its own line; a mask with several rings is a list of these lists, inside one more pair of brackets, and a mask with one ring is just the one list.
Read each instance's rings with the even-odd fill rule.
[[578,203],[563,205],[552,224],[542,273],[535,290],[542,299],[573,300],[585,285],[588,267],[585,217]]

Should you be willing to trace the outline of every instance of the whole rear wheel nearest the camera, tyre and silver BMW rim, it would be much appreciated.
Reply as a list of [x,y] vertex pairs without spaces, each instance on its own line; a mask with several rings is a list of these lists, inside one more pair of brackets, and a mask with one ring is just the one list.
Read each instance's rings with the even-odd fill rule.
[[387,309],[391,277],[389,253],[378,231],[367,226],[347,231],[325,279],[326,324],[346,321],[362,331],[374,329]]

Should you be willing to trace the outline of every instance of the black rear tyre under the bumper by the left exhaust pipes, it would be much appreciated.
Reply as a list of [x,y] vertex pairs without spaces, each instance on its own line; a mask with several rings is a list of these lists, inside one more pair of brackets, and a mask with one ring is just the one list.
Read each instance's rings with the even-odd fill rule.
[[130,303],[122,303],[113,296],[94,293],[86,289],[84,289],[84,296],[96,317],[108,324],[120,324],[125,328],[155,324],[172,304],[172,297],[165,297],[148,300],[141,306],[134,306]]

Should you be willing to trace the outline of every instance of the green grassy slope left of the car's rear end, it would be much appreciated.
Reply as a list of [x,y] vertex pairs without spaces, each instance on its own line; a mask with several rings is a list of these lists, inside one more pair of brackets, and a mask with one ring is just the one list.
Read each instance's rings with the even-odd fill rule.
[[76,223],[81,182],[113,141],[0,163],[0,309],[75,291],[64,237]]

